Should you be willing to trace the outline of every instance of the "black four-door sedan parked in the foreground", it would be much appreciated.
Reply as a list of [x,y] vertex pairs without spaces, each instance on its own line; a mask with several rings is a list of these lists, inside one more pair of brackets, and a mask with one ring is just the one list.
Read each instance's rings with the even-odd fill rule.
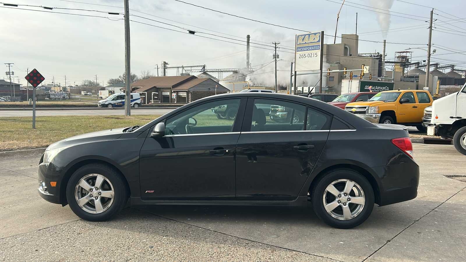
[[[231,117],[217,117],[220,106]],[[110,218],[128,198],[131,206],[310,201],[325,223],[353,228],[374,204],[415,198],[418,182],[403,127],[307,97],[247,92],[206,97],[144,126],[58,141],[41,158],[38,190],[89,221]]]

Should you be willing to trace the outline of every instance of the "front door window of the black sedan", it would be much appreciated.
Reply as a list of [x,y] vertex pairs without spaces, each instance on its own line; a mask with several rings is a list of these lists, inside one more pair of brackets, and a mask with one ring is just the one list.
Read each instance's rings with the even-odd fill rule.
[[165,135],[226,133],[233,130],[240,99],[204,103],[167,119]]

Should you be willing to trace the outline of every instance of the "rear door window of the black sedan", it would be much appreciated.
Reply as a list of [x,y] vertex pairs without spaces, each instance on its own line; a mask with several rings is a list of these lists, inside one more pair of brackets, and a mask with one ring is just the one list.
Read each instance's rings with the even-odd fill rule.
[[306,107],[272,99],[254,99],[251,131],[304,130]]

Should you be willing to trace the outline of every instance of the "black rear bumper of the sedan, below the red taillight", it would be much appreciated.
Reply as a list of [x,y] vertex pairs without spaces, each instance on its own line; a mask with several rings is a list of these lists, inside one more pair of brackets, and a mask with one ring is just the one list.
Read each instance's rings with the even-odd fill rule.
[[379,206],[411,200],[418,195],[419,166],[413,160],[372,170],[381,180]]

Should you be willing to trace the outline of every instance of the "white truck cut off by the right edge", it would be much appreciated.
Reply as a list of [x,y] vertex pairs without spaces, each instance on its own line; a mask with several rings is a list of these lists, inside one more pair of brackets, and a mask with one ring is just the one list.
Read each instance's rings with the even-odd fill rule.
[[466,84],[459,92],[434,100],[424,110],[423,125],[428,136],[452,138],[453,145],[466,155]]

